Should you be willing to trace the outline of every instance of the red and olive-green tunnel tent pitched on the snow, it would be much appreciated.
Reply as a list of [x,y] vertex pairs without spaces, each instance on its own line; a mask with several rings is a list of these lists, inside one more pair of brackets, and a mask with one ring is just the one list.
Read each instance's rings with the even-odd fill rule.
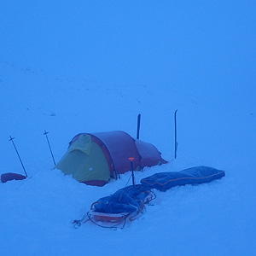
[[165,164],[154,145],[132,138],[124,131],[79,133],[55,166],[81,183],[102,186],[110,178],[145,166]]

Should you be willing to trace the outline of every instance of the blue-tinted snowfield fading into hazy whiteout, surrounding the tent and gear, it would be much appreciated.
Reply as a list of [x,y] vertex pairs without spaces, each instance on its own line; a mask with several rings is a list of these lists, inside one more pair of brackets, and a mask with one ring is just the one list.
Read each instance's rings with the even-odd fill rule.
[[[1,255],[256,255],[255,3],[3,1],[0,5]],[[173,113],[177,111],[177,159]],[[123,188],[52,170],[79,132],[126,131],[169,161],[212,166],[212,183],[155,191],[123,230],[72,222]],[[131,183],[131,181],[130,181]]]

